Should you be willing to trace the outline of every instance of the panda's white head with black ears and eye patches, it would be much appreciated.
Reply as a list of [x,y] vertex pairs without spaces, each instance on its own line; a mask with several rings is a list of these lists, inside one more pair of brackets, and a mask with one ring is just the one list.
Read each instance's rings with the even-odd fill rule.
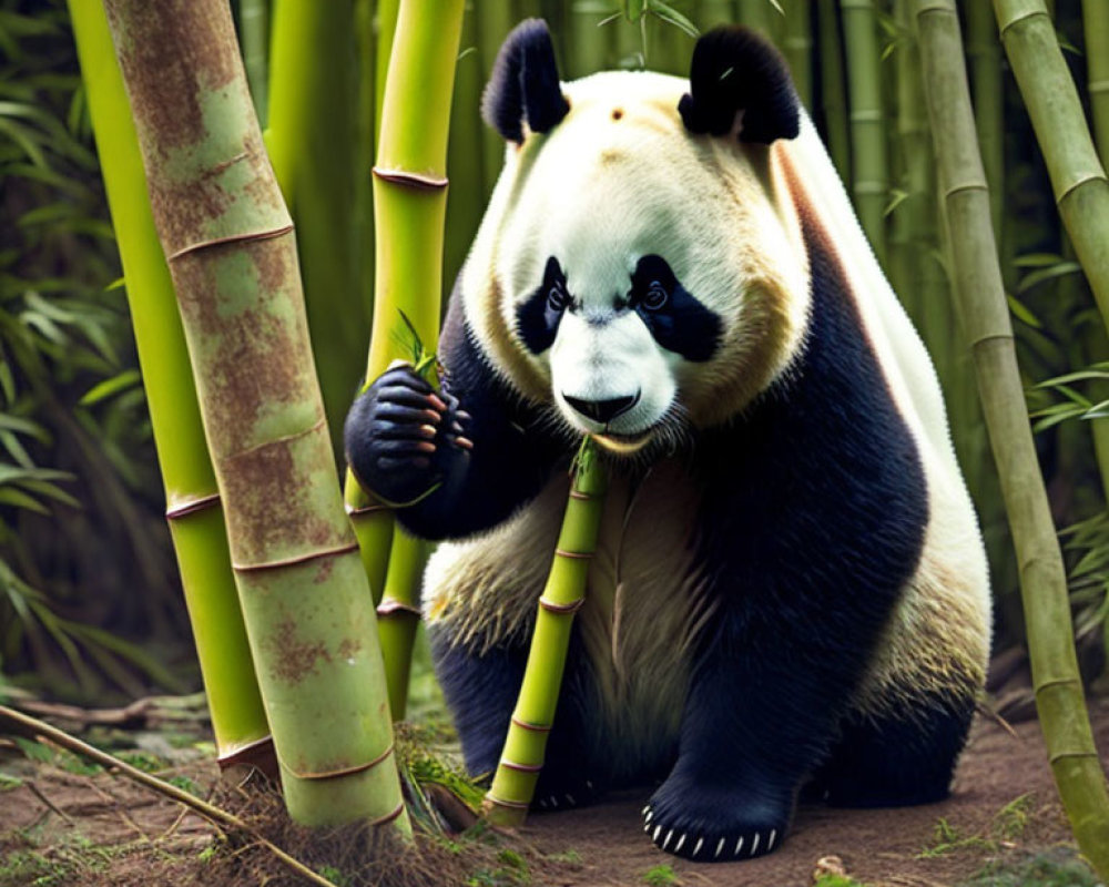
[[509,35],[486,90],[508,142],[462,277],[500,374],[578,432],[634,452],[733,417],[800,348],[807,259],[771,143],[797,134],[777,53],[698,41],[690,81],[560,84],[550,35]]

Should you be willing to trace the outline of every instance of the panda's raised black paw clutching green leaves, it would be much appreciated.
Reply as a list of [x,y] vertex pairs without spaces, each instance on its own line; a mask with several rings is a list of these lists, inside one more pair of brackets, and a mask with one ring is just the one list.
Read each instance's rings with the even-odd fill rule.
[[394,366],[362,394],[344,428],[358,481],[389,504],[410,504],[468,458],[469,416],[410,366]]

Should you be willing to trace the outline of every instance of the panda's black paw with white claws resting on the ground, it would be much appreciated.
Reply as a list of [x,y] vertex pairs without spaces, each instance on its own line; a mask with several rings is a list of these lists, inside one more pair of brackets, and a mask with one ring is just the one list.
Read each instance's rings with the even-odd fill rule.
[[792,792],[695,782],[672,774],[643,808],[657,847],[699,863],[750,859],[777,849],[790,827]]

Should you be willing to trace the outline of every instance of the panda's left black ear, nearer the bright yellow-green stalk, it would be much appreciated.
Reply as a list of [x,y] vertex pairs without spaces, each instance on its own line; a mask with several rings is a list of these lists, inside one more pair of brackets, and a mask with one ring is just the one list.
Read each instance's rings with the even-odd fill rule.
[[558,65],[547,22],[527,19],[512,29],[497,53],[492,77],[481,95],[481,116],[509,142],[522,144],[525,120],[532,132],[547,132],[570,104],[558,83]]

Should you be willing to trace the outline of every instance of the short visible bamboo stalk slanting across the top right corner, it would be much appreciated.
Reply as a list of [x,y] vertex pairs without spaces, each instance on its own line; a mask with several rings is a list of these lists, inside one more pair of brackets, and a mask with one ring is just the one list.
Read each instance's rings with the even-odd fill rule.
[[1109,180],[1044,0],[994,0],[1001,43],[1047,162],[1056,205],[1109,327]]

